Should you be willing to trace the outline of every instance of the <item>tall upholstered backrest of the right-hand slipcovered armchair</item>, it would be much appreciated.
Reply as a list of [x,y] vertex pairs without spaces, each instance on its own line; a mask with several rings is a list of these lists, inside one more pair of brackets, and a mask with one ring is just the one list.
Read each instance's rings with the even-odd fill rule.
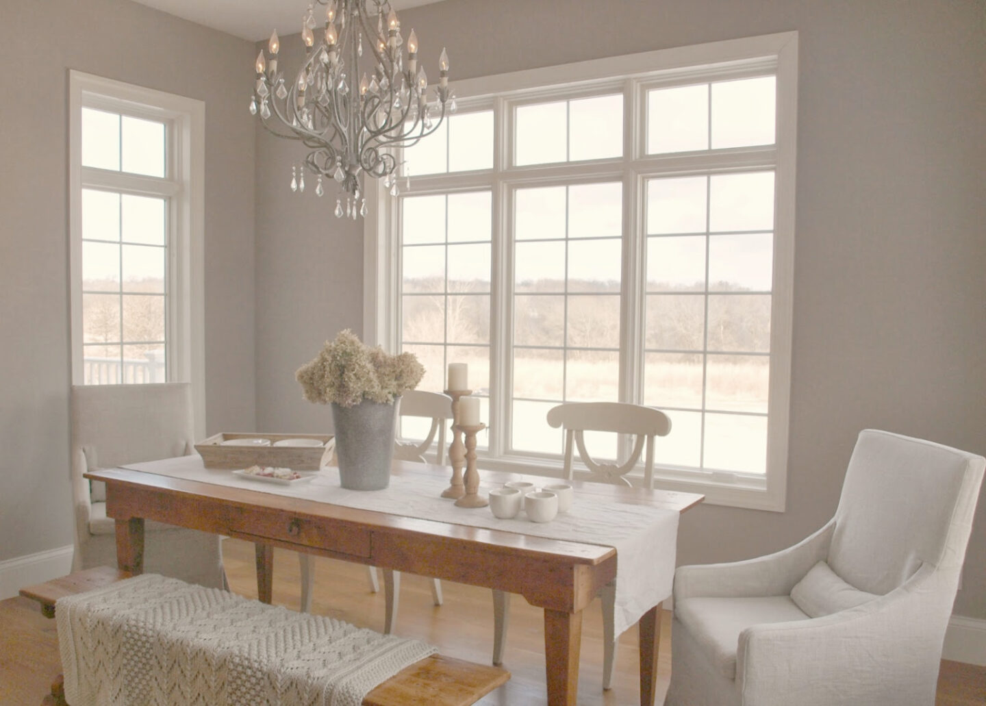
[[872,594],[898,588],[923,564],[957,588],[984,465],[940,444],[864,430],[846,470],[828,564]]

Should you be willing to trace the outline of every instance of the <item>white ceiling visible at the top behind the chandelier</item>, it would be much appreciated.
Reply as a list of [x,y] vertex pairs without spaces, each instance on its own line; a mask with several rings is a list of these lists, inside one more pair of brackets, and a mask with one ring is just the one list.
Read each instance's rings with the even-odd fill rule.
[[[409,7],[431,5],[441,0],[390,0],[398,12]],[[294,35],[302,31],[302,18],[314,0],[136,0],[169,15],[229,35],[258,41],[270,36]]]

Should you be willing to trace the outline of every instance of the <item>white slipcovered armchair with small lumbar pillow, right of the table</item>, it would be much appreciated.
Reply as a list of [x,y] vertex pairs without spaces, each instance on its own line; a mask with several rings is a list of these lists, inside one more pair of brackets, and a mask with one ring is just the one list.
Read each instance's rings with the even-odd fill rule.
[[833,517],[674,576],[666,706],[928,706],[986,459],[866,430]]

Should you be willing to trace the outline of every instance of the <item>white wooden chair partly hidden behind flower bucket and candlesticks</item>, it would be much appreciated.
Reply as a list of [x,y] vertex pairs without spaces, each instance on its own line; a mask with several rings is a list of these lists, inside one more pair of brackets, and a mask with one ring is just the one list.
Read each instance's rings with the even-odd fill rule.
[[[441,392],[428,392],[420,389],[408,390],[401,395],[398,413],[401,418],[429,419],[431,427],[424,441],[420,443],[396,441],[393,448],[393,458],[426,463],[428,462],[428,452],[437,438],[435,463],[443,465],[445,463],[445,430],[452,419],[452,397]],[[312,593],[315,588],[312,557],[310,554],[299,554],[298,556],[302,567],[302,610],[310,612],[312,610]],[[377,567],[369,566],[367,569],[370,572],[370,583],[373,591],[377,593],[380,591]],[[385,569],[384,585],[387,600],[384,632],[389,635],[393,632],[393,625],[397,618],[400,572]],[[432,579],[432,600],[436,605],[442,604],[442,583],[438,579]]]

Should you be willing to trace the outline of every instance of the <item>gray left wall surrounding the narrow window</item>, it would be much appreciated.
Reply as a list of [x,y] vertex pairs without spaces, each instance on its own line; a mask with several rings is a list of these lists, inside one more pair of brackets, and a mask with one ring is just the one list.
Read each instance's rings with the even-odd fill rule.
[[69,69],[205,102],[206,427],[253,428],[253,56],[127,0],[0,0],[0,561],[72,542]]

